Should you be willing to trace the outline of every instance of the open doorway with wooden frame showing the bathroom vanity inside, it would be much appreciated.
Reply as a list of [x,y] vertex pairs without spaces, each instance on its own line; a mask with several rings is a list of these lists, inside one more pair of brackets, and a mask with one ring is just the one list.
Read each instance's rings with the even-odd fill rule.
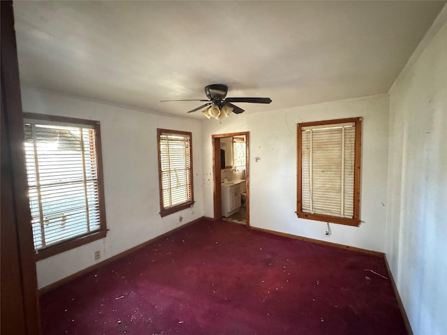
[[214,218],[250,226],[249,132],[212,135]]

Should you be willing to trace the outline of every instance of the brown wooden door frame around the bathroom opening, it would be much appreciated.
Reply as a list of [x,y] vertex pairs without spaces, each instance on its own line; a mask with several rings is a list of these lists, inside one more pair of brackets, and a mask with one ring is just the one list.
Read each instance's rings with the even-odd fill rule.
[[221,220],[222,218],[222,186],[221,186],[221,138],[223,137],[235,137],[235,136],[245,136],[245,179],[247,179],[247,218],[246,225],[250,227],[250,196],[249,196],[249,179],[250,179],[250,169],[249,169],[249,143],[250,143],[250,133],[248,131],[241,131],[238,133],[226,133],[226,134],[216,134],[212,135],[212,170],[214,174],[214,220]]

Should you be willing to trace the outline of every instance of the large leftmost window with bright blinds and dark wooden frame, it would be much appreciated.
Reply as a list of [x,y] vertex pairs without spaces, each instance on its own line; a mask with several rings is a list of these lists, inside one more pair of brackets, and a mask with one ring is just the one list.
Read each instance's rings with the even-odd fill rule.
[[99,122],[24,113],[24,136],[37,258],[105,237]]

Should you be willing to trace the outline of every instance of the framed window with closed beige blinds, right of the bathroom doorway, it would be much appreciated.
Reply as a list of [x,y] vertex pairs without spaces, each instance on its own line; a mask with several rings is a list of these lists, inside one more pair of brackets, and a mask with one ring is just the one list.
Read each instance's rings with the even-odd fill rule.
[[298,217],[359,225],[361,122],[298,124]]

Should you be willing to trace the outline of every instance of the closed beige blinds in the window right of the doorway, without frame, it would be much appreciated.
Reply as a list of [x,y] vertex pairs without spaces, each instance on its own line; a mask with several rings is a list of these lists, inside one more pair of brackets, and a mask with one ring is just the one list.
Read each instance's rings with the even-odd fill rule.
[[302,211],[353,218],[355,123],[306,126],[300,136]]

